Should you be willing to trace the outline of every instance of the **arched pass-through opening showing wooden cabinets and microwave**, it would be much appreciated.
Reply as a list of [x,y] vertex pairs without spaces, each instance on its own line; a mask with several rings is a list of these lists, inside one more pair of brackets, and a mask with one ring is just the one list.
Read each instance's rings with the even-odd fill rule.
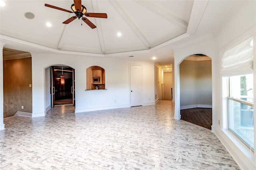
[[86,90],[105,90],[105,70],[100,66],[86,69]]

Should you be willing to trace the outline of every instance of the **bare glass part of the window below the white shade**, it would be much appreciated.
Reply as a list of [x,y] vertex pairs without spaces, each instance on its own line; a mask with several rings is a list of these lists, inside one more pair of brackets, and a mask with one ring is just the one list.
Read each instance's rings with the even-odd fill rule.
[[229,77],[228,129],[254,150],[253,74]]

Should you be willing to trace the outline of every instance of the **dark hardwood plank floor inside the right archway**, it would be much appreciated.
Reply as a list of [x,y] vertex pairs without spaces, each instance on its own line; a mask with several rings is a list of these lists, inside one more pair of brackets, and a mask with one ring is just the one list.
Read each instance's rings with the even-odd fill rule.
[[180,110],[181,119],[198,126],[211,129],[212,108],[192,108]]

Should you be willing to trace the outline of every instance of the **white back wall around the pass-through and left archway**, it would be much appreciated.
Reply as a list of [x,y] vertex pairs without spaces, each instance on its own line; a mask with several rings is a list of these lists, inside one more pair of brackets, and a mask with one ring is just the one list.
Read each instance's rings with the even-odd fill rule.
[[[31,53],[33,84],[33,116],[45,114],[49,101],[48,67],[64,64],[75,69],[75,112],[130,107],[129,64],[142,65],[143,105],[154,104],[154,63],[74,55]],[[105,69],[107,90],[86,91],[86,68]],[[46,70],[45,70],[46,69]],[[115,102],[116,101],[116,102]]]

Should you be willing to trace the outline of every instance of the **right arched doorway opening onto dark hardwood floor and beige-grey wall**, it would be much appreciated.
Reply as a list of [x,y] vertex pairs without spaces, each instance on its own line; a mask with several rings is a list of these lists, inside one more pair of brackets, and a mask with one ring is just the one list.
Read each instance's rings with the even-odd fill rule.
[[191,55],[180,63],[181,119],[207,129],[212,126],[212,61]]

